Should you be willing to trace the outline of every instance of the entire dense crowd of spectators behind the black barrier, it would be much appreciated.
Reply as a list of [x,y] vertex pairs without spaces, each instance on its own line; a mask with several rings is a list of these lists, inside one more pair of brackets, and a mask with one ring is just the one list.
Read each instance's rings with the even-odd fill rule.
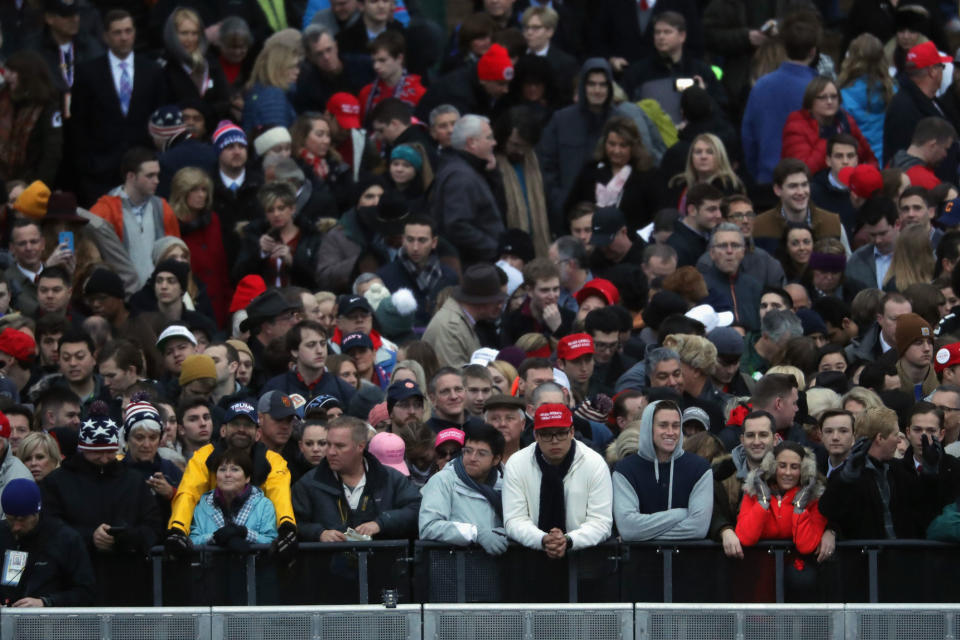
[[156,545],[960,541],[955,14],[0,7],[0,604]]

